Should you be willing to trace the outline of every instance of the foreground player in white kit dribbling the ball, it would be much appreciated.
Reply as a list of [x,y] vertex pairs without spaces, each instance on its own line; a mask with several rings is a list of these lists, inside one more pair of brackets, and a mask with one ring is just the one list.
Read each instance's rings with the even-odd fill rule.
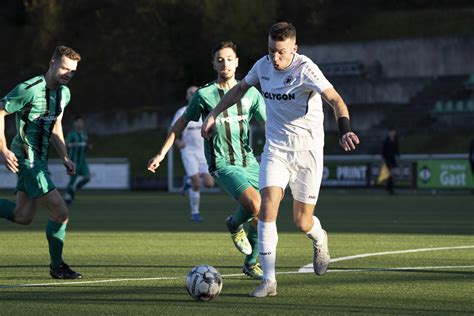
[[297,53],[296,30],[280,22],[270,28],[269,54],[258,60],[244,80],[232,88],[203,122],[209,137],[215,117],[260,84],[266,103],[266,143],[260,163],[262,205],[258,222],[259,254],[263,281],[250,296],[277,294],[275,278],[278,233],[276,219],[287,185],[293,195],[293,221],[313,241],[313,266],[323,275],[329,266],[326,231],[313,215],[323,171],[323,97],[333,108],[339,143],[345,151],[359,144],[351,131],[349,111],[341,96],[308,57]]

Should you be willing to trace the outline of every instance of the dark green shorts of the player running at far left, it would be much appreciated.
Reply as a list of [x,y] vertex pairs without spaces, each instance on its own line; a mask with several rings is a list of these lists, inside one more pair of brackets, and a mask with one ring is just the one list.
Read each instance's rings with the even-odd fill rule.
[[18,162],[16,191],[25,192],[29,198],[34,199],[56,189],[48,172],[48,162],[29,160]]

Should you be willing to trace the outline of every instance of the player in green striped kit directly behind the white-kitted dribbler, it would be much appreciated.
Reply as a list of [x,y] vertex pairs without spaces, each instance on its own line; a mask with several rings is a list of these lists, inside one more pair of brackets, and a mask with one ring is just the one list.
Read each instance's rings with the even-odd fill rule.
[[[212,50],[212,64],[217,80],[198,89],[184,114],[172,126],[160,152],[148,162],[148,170],[155,172],[166,153],[180,136],[189,121],[206,117],[224,94],[235,86],[238,66],[236,45],[221,42]],[[209,173],[219,186],[239,202],[235,213],[226,224],[236,248],[246,256],[242,271],[261,280],[263,272],[257,263],[258,238],[256,216],[260,210],[258,192],[259,166],[249,146],[249,122],[252,118],[265,122],[265,102],[257,89],[251,88],[236,104],[218,118],[214,135],[204,141]],[[246,235],[242,225],[251,221]]]

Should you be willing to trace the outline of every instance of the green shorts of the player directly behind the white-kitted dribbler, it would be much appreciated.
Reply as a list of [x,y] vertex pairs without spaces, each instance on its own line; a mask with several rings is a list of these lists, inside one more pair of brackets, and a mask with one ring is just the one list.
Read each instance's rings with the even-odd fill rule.
[[252,186],[258,190],[258,173],[259,166],[255,161],[247,167],[219,167],[212,173],[212,176],[227,194],[238,200],[248,187]]

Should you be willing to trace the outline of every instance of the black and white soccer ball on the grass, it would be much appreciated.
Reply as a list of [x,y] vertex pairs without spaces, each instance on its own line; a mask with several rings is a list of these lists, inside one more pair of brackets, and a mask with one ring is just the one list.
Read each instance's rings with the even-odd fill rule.
[[222,277],[212,266],[196,266],[186,276],[186,290],[196,301],[212,300],[222,290]]

